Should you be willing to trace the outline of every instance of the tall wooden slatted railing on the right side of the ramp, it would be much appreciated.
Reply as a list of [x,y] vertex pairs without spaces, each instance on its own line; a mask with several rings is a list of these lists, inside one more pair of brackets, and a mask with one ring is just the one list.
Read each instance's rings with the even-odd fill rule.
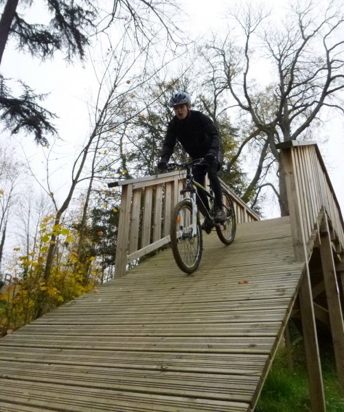
[[303,247],[317,230],[323,210],[330,219],[341,253],[344,246],[343,216],[317,144],[288,141],[279,144],[278,148],[286,176],[297,260],[303,260]]

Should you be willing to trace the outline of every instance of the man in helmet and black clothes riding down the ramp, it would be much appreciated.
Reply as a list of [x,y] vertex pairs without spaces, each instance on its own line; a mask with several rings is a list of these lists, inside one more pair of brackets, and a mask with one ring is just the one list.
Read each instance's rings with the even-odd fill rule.
[[[226,220],[225,211],[222,210],[221,184],[218,179],[222,153],[220,150],[220,135],[214,122],[203,113],[191,110],[191,98],[185,92],[174,93],[170,99],[169,106],[174,109],[174,117],[168,124],[168,130],[163,141],[161,159],[158,168],[163,170],[174,151],[178,140],[188,155],[194,159],[203,158],[205,165],[194,166],[194,179],[201,185],[205,185],[205,175],[208,174],[211,189],[214,192],[214,222],[221,223]],[[200,200],[209,211],[207,196],[198,190]],[[204,210],[199,205],[200,211]],[[210,232],[213,226],[211,220],[205,214],[203,229]]]

